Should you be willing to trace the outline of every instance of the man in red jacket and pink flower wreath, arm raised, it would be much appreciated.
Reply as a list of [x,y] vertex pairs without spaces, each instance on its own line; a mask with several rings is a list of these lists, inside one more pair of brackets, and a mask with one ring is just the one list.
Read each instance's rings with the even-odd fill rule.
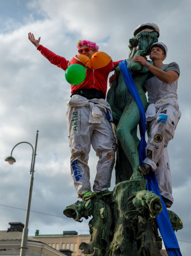
[[[81,62],[79,55],[71,61],[56,55],[40,44],[41,38],[35,39],[32,33],[29,40],[41,54],[52,64],[66,70],[69,65],[81,64],[86,68],[86,78],[78,85],[71,84],[71,99],[68,103],[67,129],[71,151],[70,167],[78,198],[88,200],[96,195],[109,195],[111,175],[115,163],[116,138],[112,129],[112,111],[105,100],[107,78],[120,61],[110,59],[104,67],[93,69]],[[96,43],[81,40],[77,45],[78,52],[91,59],[98,51]],[[90,185],[88,158],[90,147],[99,157],[93,192]]]

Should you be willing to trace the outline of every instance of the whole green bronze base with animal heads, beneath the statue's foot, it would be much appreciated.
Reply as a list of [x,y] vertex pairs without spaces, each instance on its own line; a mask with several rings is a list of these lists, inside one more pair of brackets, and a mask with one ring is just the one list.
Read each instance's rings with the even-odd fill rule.
[[153,220],[162,211],[162,205],[159,196],[145,189],[146,180],[127,180],[116,185],[110,200],[96,196],[64,209],[64,214],[75,221],[93,216],[89,222],[90,242],[79,246],[84,255],[132,252],[130,255],[137,256],[142,255],[138,254],[138,251],[142,252],[141,246],[144,250],[150,250],[152,246],[153,255],[160,255],[156,253],[162,248],[162,242],[158,233],[153,236],[153,229],[157,230]]

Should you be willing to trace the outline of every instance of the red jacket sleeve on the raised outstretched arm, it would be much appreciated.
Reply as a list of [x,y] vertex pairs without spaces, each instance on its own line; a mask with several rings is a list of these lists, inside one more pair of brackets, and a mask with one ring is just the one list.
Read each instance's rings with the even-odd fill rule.
[[60,67],[63,70],[67,69],[69,61],[67,61],[64,57],[56,55],[54,52],[51,52],[49,49],[43,47],[42,45],[39,45],[37,49],[45,58],[50,61],[50,63]]

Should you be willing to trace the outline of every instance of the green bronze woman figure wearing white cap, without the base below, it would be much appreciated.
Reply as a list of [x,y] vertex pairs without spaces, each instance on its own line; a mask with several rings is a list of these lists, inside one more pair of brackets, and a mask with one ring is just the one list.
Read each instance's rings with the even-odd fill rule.
[[[149,70],[133,59],[136,56],[145,58],[149,54],[150,46],[158,41],[159,27],[154,23],[144,23],[133,31],[134,37],[129,40],[129,58],[127,68],[130,71],[142,104],[147,109],[148,103],[143,90],[148,78]],[[116,124],[116,134],[119,139],[119,147],[116,160],[116,183],[142,177],[139,172],[139,139],[137,137],[137,125],[140,121],[139,109],[133,99],[127,85],[124,82],[120,67],[116,67],[118,80],[113,81],[107,94],[110,103],[113,122]],[[132,175],[133,173],[133,175]]]

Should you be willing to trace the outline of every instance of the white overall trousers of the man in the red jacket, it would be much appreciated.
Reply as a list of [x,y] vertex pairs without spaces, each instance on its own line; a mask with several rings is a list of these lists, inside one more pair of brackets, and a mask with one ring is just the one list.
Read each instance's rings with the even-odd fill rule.
[[91,111],[92,106],[69,107],[67,111],[71,174],[79,197],[91,191],[88,166],[91,145],[99,157],[93,191],[100,192],[110,187],[115,163],[116,141],[106,113],[101,111],[100,123],[90,123]]

